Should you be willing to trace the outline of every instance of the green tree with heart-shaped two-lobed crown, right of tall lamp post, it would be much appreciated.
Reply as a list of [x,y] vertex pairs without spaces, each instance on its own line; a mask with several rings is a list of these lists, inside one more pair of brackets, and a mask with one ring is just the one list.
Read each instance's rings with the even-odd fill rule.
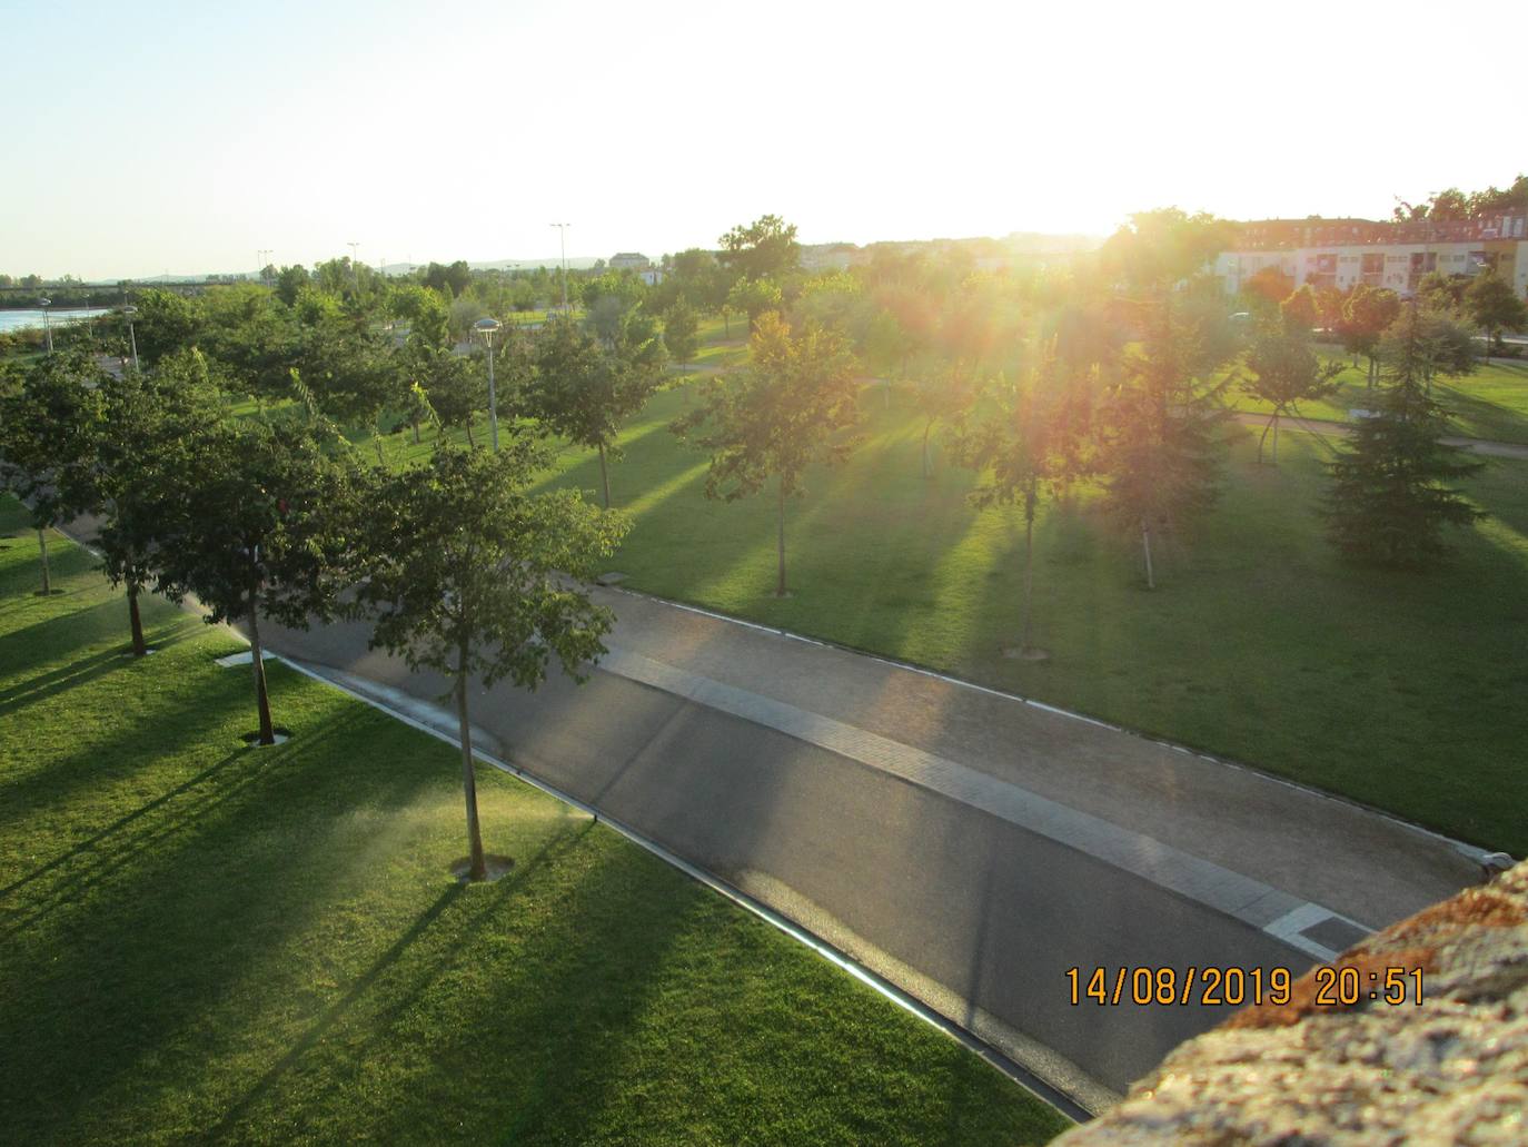
[[542,330],[526,410],[552,431],[599,451],[599,482],[610,509],[607,456],[620,457],[620,424],[646,405],[663,381],[663,341],[640,309],[630,310],[608,347],[559,318]]

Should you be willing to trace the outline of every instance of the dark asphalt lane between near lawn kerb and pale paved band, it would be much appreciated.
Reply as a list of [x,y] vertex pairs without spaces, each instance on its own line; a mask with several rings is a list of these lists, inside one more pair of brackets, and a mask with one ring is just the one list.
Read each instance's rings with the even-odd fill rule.
[[[448,690],[365,653],[361,625],[266,636],[422,699]],[[613,673],[535,694],[477,688],[472,719],[520,768],[808,927],[1091,1109],[1227,1009],[1074,1005],[1068,968],[1086,979],[1103,967],[1112,982],[1122,967],[1311,963],[1056,840]]]

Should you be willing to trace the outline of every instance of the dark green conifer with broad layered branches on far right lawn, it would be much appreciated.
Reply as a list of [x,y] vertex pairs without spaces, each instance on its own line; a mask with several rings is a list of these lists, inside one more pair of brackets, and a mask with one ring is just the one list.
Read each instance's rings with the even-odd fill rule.
[[1482,463],[1444,445],[1445,416],[1429,395],[1433,376],[1449,369],[1445,353],[1412,303],[1389,335],[1378,408],[1328,463],[1328,537],[1351,560],[1423,567],[1449,552],[1444,526],[1481,517],[1449,483]]

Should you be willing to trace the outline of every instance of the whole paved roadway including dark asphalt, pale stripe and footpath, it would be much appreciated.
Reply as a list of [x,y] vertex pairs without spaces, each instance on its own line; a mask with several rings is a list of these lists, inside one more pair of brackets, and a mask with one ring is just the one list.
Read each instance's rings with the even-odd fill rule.
[[[1297,973],[1476,872],[1427,833],[1097,722],[601,596],[620,621],[585,687],[474,690],[500,754],[1093,1109],[1224,1009],[1074,1006],[1068,968]],[[345,624],[267,642],[362,688],[446,691],[365,636]]]

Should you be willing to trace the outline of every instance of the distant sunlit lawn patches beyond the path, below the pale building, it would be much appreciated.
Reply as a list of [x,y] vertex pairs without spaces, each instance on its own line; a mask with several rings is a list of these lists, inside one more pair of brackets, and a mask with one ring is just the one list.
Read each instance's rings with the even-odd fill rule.
[[[1322,353],[1331,362],[1352,362],[1348,355]],[[1365,384],[1366,378],[1368,364],[1363,359],[1358,367],[1348,366],[1337,376],[1337,393],[1320,402],[1302,402],[1300,413],[1346,422],[1349,410],[1374,404],[1374,392]],[[1438,382],[1433,395],[1449,413],[1453,433],[1528,444],[1528,362],[1482,364],[1473,375]],[[1267,402],[1258,402],[1241,392],[1233,392],[1232,401],[1238,410],[1273,410]]]

